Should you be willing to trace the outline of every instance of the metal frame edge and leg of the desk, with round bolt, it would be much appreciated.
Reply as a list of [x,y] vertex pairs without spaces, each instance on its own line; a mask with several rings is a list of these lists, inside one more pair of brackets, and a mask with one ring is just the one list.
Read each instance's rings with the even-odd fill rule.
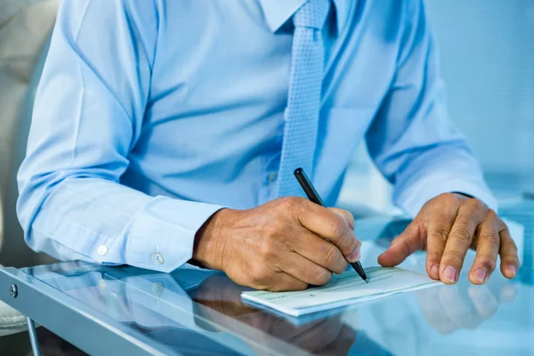
[[94,311],[83,303],[13,267],[0,269],[0,300],[27,316],[29,337],[36,356],[40,352],[34,321],[89,354],[176,354],[164,346],[150,343],[147,336],[131,335],[104,314],[95,318]]

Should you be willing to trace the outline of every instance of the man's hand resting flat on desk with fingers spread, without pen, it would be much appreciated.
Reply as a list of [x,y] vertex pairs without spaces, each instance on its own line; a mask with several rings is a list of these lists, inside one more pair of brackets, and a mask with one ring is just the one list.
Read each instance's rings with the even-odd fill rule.
[[506,223],[480,200],[446,193],[423,206],[408,228],[378,257],[378,263],[394,266],[417,250],[427,250],[430,278],[455,284],[469,248],[476,250],[469,271],[474,284],[484,284],[490,278],[498,255],[501,273],[507,279],[515,277],[519,259]]

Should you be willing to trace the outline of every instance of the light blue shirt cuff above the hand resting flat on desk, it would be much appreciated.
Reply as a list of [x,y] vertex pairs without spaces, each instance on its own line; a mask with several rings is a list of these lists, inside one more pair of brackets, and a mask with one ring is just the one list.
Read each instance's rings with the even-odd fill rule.
[[498,212],[497,199],[493,197],[490,190],[485,187],[485,184],[465,182],[465,180],[461,179],[452,179],[439,183],[433,182],[432,184],[412,184],[411,187],[404,190],[394,199],[394,203],[400,206],[410,217],[415,217],[427,201],[440,194],[453,191],[477,198],[490,209],[493,209],[496,213]]

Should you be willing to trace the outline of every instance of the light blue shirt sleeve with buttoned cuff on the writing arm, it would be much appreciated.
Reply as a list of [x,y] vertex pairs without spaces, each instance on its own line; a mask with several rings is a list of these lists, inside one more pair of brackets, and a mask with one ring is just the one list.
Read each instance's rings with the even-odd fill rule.
[[221,206],[119,183],[137,142],[158,41],[152,1],[63,1],[37,90],[17,211],[36,251],[173,271]]

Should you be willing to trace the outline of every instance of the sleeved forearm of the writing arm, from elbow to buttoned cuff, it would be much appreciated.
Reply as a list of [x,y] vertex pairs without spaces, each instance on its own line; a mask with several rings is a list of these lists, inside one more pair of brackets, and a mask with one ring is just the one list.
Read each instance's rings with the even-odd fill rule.
[[20,222],[33,249],[64,260],[156,271],[173,271],[187,263],[195,233],[218,209],[150,197],[98,177],[22,184],[19,201]]

